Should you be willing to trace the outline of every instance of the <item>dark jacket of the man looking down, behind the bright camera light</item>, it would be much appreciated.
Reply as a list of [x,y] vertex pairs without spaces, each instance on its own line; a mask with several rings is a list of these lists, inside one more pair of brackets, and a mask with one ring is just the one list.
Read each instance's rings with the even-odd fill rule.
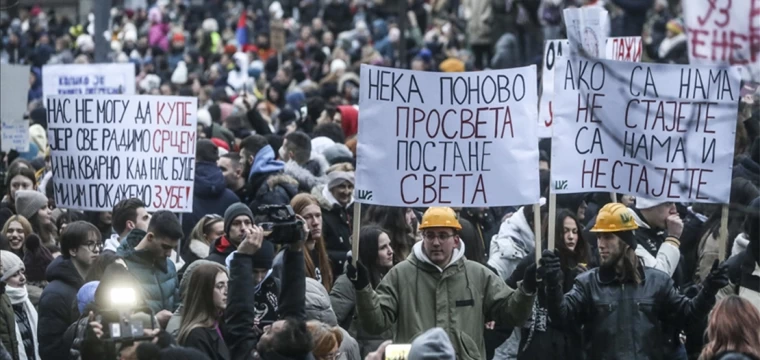
[[174,263],[156,259],[148,250],[135,250],[146,232],[134,229],[127,234],[116,253],[127,263],[129,272],[140,282],[142,297],[153,313],[174,311],[179,305],[179,280]]

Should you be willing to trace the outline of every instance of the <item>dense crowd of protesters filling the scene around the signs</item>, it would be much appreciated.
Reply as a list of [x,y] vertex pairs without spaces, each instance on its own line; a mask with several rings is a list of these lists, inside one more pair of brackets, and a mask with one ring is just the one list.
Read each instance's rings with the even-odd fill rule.
[[[569,6],[605,7],[609,35],[643,35],[646,61],[685,63],[680,2],[414,0],[403,21],[391,1],[196,4],[116,7],[108,31],[109,61],[134,64],[138,94],[198,99],[181,217],[137,198],[56,206],[40,68],[93,63],[94,19],[0,9],[0,64],[32,66],[30,149],[0,164],[0,359],[382,359],[388,341],[412,344],[409,359],[760,359],[751,84],[725,261],[718,206],[628,194],[542,205],[541,239],[557,249],[538,264],[531,205],[364,206],[352,237],[359,65],[536,63]],[[548,198],[551,147],[540,148]],[[290,206],[302,236],[267,234],[262,205]],[[117,315],[141,337],[118,334]]]

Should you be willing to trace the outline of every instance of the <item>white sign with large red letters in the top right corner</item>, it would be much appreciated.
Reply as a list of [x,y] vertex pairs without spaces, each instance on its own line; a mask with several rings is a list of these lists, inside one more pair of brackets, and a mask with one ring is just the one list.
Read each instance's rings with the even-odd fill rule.
[[689,0],[683,13],[690,64],[735,65],[760,81],[760,1]]

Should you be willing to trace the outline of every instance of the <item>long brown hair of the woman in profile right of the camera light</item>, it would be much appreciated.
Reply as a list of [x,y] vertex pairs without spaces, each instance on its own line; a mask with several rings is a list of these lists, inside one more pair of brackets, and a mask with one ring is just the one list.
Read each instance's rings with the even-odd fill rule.
[[182,300],[182,321],[179,325],[177,342],[185,345],[190,332],[196,328],[210,328],[219,319],[219,311],[214,305],[214,286],[216,275],[224,272],[217,264],[198,265],[190,275],[188,289],[197,289],[195,296],[185,296]]

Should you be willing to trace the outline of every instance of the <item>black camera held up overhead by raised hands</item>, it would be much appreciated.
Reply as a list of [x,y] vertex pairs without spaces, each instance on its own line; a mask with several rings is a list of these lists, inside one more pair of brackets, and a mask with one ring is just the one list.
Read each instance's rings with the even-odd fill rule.
[[290,205],[262,205],[256,209],[256,222],[264,236],[275,244],[292,244],[303,240],[304,222]]

